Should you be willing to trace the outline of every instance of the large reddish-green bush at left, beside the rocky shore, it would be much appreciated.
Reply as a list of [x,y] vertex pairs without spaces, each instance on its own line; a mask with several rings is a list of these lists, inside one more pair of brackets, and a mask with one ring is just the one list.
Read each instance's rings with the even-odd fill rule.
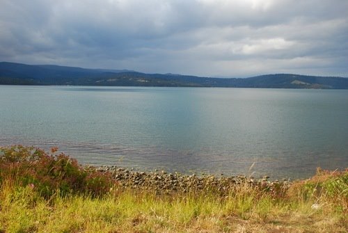
[[5,179],[20,186],[32,186],[40,195],[49,198],[54,193],[88,193],[101,196],[114,182],[111,175],[83,168],[77,160],[64,153],[50,153],[34,147],[15,145],[0,147],[0,184]]

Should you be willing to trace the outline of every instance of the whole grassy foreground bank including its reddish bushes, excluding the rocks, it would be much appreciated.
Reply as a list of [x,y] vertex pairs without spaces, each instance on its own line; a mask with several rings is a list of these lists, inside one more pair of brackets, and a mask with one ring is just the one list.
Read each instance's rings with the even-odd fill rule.
[[347,170],[318,170],[286,186],[245,179],[227,190],[193,182],[159,193],[84,168],[56,148],[2,147],[0,158],[0,232],[348,230]]

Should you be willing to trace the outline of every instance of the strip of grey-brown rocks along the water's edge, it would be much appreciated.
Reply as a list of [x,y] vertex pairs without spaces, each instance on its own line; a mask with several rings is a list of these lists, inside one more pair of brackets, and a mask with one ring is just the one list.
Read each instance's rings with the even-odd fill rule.
[[116,166],[102,166],[97,170],[111,173],[113,179],[116,179],[120,186],[155,191],[158,194],[207,191],[227,195],[230,191],[237,190],[237,188],[253,187],[273,195],[280,195],[285,193],[291,184],[290,181],[285,179],[269,181],[268,176],[262,177],[262,179],[254,179],[244,175],[228,177],[182,175],[178,172],[170,173],[164,170],[160,172],[139,172]]

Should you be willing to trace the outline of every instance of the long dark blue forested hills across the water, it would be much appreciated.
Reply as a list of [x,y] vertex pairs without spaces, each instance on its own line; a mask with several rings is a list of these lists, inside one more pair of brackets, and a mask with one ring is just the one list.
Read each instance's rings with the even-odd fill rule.
[[0,84],[348,89],[348,79],[342,77],[267,74],[246,79],[221,79],[180,74],[145,74],[131,70],[84,69],[8,62],[0,63]]

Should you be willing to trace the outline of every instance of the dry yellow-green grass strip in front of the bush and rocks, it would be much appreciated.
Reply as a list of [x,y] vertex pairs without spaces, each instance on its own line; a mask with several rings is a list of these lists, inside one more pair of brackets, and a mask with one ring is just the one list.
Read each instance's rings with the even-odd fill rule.
[[347,232],[347,212],[322,198],[271,200],[234,193],[168,198],[124,190],[103,198],[84,195],[51,200],[31,187],[3,184],[0,232]]

